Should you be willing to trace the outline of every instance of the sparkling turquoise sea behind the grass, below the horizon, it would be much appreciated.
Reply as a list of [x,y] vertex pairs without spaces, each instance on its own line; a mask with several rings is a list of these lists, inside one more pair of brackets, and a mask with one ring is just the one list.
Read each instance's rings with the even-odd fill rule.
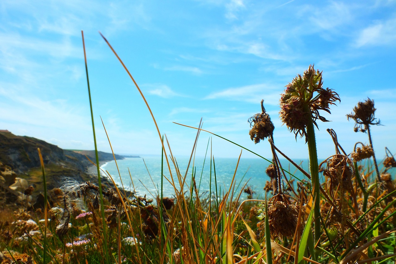
[[[146,195],[149,199],[155,198],[157,195],[161,196],[161,193],[163,197],[173,197],[175,195],[173,186],[176,186],[178,191],[181,191],[181,186],[183,186],[183,193],[187,192],[186,195],[190,195],[192,176],[194,176],[200,194],[216,193],[217,190],[218,195],[223,195],[231,190],[238,195],[242,189],[249,186],[254,191],[255,199],[264,197],[263,188],[266,181],[269,180],[265,170],[270,165],[264,159],[241,158],[238,163],[237,158],[211,160],[210,158],[196,157],[188,165],[189,160],[189,157],[180,157],[175,158],[173,162],[169,158],[171,172],[169,172],[165,158],[162,166],[161,156],[125,158],[117,161],[118,169],[115,161],[107,162],[101,168],[113,178],[118,186],[134,191],[139,196]],[[287,178],[294,175],[299,179],[307,179],[286,159],[280,159],[280,161],[282,168],[287,171]],[[307,160],[295,162],[308,172]],[[177,176],[176,171],[179,171],[180,177]],[[108,177],[105,174],[102,176]],[[185,179],[184,184],[183,179]],[[172,181],[174,184],[170,183]],[[246,194],[242,192],[242,197],[244,196]]]

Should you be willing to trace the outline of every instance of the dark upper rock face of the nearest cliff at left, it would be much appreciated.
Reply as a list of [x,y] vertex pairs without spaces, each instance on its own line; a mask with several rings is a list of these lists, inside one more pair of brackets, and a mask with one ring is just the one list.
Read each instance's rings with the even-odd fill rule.
[[43,140],[0,132],[0,161],[18,174],[40,167],[37,148],[40,148],[44,165],[73,167],[85,172],[91,164],[84,155],[63,150]]

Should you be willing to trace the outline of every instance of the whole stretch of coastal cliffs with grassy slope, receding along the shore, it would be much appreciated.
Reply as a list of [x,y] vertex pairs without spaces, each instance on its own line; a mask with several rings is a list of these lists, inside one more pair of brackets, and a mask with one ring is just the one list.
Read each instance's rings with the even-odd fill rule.
[[[95,151],[65,150],[37,138],[16,136],[10,132],[0,131],[0,193],[6,192],[9,197],[15,197],[17,193],[9,188],[15,178],[33,185],[35,195],[44,190],[37,148],[40,148],[44,161],[47,189],[60,187],[65,178],[74,178],[78,182],[97,183],[97,176],[88,173],[92,163],[85,156],[95,162]],[[124,159],[124,157],[116,155],[116,159]],[[111,160],[113,160],[111,153],[99,152],[99,161]],[[112,186],[107,178],[103,178],[102,183]],[[24,188],[20,187],[17,191],[23,193]],[[12,198],[10,199],[12,201]]]

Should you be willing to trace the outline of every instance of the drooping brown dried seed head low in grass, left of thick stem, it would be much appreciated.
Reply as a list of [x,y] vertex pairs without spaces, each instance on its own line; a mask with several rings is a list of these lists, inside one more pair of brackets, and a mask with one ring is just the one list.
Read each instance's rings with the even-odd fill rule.
[[[268,223],[271,237],[277,237],[279,235],[293,237],[299,223],[298,212],[299,207],[290,204],[286,195],[275,195],[272,204],[268,207]],[[301,221],[299,226],[303,230]]]

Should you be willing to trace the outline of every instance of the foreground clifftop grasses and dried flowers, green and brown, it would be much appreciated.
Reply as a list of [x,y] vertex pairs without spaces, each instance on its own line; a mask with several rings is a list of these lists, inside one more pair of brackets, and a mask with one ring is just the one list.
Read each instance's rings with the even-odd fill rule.
[[[122,63],[110,44],[109,47]],[[322,73],[313,66],[302,76],[297,75],[282,94],[281,119],[296,137],[305,137],[310,173],[295,166],[311,182],[295,182],[282,170],[278,155],[289,158],[274,143],[274,127],[263,102],[262,112],[249,119],[252,124],[249,134],[255,143],[266,138],[271,143],[273,164],[267,168],[271,181],[265,187],[265,201],[254,199],[250,187],[238,191],[234,178],[227,190],[218,192],[216,186],[209,193],[200,193],[196,181],[202,175],[197,173],[200,170],[194,163],[197,140],[191,146],[190,163],[194,170],[188,175],[183,173],[188,171],[186,168],[177,165],[166,137],[156,125],[162,142],[162,171],[168,170],[170,177],[163,176],[158,183],[155,201],[126,195],[114,184],[114,175],[108,175],[113,188],[102,190],[99,169],[99,185],[69,180],[61,189],[51,191],[56,205],[48,205],[48,210],[44,207],[29,211],[21,207],[7,218],[12,221],[0,218],[0,250],[6,252],[0,255],[0,262],[394,263],[396,190],[389,171],[396,167],[396,161],[390,151],[386,150],[384,167],[379,172],[377,165],[373,168],[369,163],[373,159],[371,139],[369,146],[357,147],[357,143],[350,150],[352,153],[347,154],[335,131],[328,130],[336,153],[318,164],[314,125],[318,126],[318,120],[327,121],[319,110],[329,112],[329,105],[339,100],[333,90],[322,88]],[[367,105],[371,103],[368,111]],[[148,104],[147,107],[151,113]],[[348,117],[360,115],[362,107],[369,115],[365,120],[370,121],[367,128],[362,123],[362,132],[366,132],[369,124],[375,124],[373,101],[359,103]],[[153,115],[152,119],[156,124]],[[195,129],[198,139],[205,130]],[[209,181],[216,183],[215,159],[210,148],[208,156],[205,162],[210,163]],[[44,181],[48,178],[43,163],[41,176]],[[174,187],[173,198],[163,197],[164,181]],[[247,200],[241,199],[243,191]]]

